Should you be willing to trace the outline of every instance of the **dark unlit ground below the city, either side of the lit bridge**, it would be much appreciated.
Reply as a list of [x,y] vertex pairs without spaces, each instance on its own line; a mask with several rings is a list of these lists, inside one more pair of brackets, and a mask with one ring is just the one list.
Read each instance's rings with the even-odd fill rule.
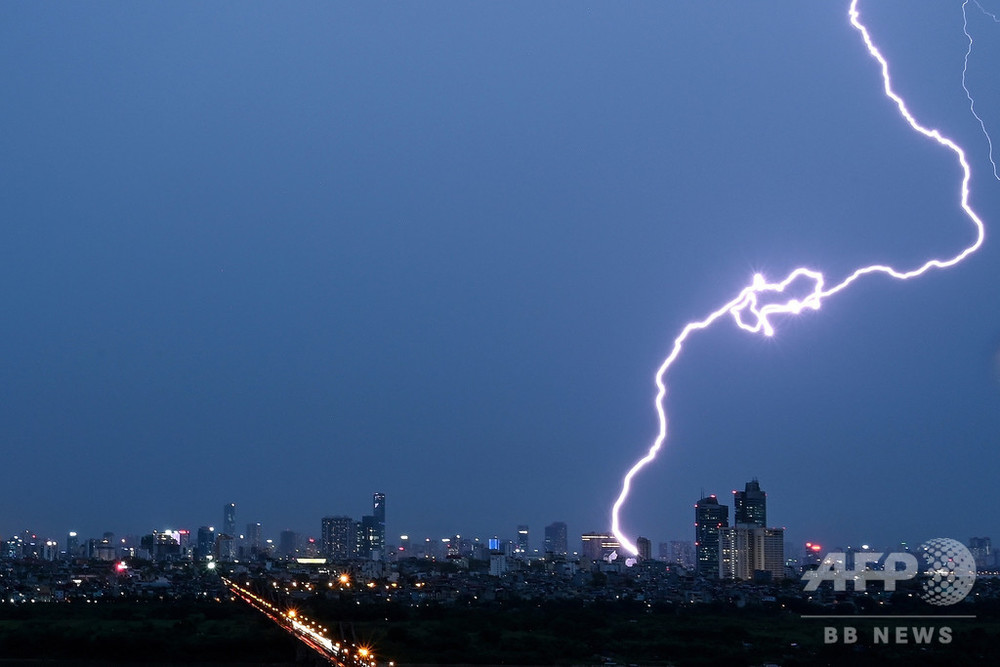
[[[802,613],[810,610],[777,605],[650,608],[625,602],[386,606],[376,614],[323,601],[303,611],[372,644],[380,664],[397,665],[978,665],[990,664],[1000,641],[1000,616],[981,607],[961,611],[975,619],[885,620],[806,619]],[[836,643],[824,642],[824,627],[837,629]],[[856,642],[843,642],[845,627],[855,628]],[[875,627],[890,628],[889,643],[874,643]],[[897,627],[905,629],[905,644],[896,643]],[[918,641],[914,627],[924,629],[925,641]],[[944,627],[950,634],[942,633]],[[950,641],[942,643],[945,635]],[[239,602],[0,605],[0,667],[287,665],[306,658],[293,638]]]

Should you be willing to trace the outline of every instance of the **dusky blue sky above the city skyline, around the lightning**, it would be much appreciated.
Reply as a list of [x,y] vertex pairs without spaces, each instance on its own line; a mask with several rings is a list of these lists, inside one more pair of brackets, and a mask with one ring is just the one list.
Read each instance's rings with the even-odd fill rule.
[[[961,3],[869,4],[995,224]],[[973,238],[846,3],[7,3],[0,62],[3,536],[604,529],[685,322]],[[997,536],[998,260],[692,339],[627,530],[756,476],[796,540]]]

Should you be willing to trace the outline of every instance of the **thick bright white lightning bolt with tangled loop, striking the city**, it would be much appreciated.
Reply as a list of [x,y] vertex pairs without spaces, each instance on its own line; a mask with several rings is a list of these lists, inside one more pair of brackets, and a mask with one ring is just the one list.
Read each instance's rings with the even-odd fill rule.
[[[968,4],[968,0],[966,0],[966,4]],[[878,47],[875,46],[874,41],[872,41],[868,28],[861,23],[861,13],[858,11],[857,5],[858,0],[851,1],[848,16],[850,18],[851,25],[861,35],[861,39],[864,41],[864,44],[868,49],[868,53],[873,59],[875,59],[882,70],[882,82],[886,97],[895,103],[899,114],[915,132],[922,134],[928,139],[933,139],[941,146],[947,148],[954,153],[955,158],[958,160],[958,164],[962,168],[962,182],[959,190],[959,201],[965,215],[968,216],[972,225],[975,227],[975,240],[971,245],[949,259],[930,259],[917,268],[906,271],[901,271],[891,266],[885,266],[882,264],[873,264],[871,266],[865,266],[857,269],[854,273],[850,274],[832,287],[826,286],[822,273],[805,267],[793,270],[785,279],[778,282],[768,282],[763,275],[758,273],[753,276],[751,283],[740,290],[740,292],[730,301],[727,301],[725,304],[712,311],[704,319],[686,324],[680,334],[678,334],[674,339],[670,355],[663,360],[663,363],[660,364],[659,369],[656,371],[657,392],[654,405],[656,406],[656,414],[659,418],[659,433],[649,450],[646,452],[646,455],[636,461],[625,474],[625,477],[622,480],[621,493],[618,495],[618,499],[611,508],[611,532],[614,533],[618,543],[633,555],[638,554],[638,549],[635,544],[629,540],[624,533],[622,533],[619,521],[619,512],[625,504],[625,501],[628,499],[628,494],[632,487],[632,478],[634,478],[640,470],[656,458],[657,453],[663,447],[663,443],[667,438],[667,415],[666,410],[663,407],[663,399],[667,394],[667,386],[664,383],[664,376],[674,362],[680,357],[681,351],[684,348],[684,343],[687,341],[688,337],[697,331],[707,329],[717,320],[726,315],[731,316],[736,325],[744,331],[771,336],[774,334],[774,327],[771,323],[772,317],[798,314],[804,310],[819,310],[824,299],[846,289],[862,276],[870,274],[885,274],[897,280],[908,280],[910,278],[920,276],[931,269],[945,269],[954,266],[978,250],[983,244],[983,239],[985,237],[985,227],[983,225],[983,221],[969,205],[969,181],[972,179],[972,170],[969,167],[968,160],[966,159],[965,151],[954,141],[944,136],[939,130],[930,129],[918,123],[913,114],[910,113],[910,110],[906,106],[906,102],[904,102],[903,98],[901,98],[892,88],[892,81],[889,77],[889,64],[882,53],[878,50]],[[965,5],[963,5],[963,11],[964,8]],[[967,30],[966,35],[969,35]],[[972,49],[971,40],[972,38],[969,37],[969,53],[971,53]],[[969,53],[966,54],[966,64],[968,63]],[[963,83],[964,73],[965,70],[963,69]],[[968,94],[967,88],[966,93]],[[970,100],[971,97],[972,96],[969,95]],[[982,128],[985,132],[985,125],[982,125]],[[782,296],[784,295],[786,289],[788,289],[793,283],[801,283],[803,281],[805,281],[807,285],[811,285],[811,290],[804,297],[785,297],[784,300],[782,300]]]

